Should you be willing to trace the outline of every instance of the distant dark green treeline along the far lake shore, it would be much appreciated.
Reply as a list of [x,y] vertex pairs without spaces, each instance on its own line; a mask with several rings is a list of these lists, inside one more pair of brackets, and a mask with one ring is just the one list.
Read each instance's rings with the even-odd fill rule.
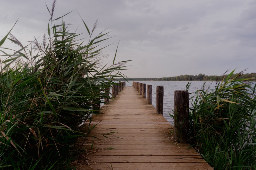
[[[234,73],[232,77],[236,77],[239,73]],[[252,81],[256,81],[256,73],[240,73],[240,78],[252,78]],[[162,78],[128,78],[128,81],[220,81],[222,80],[224,75],[178,75],[174,77],[162,77]],[[232,79],[231,77],[231,79]],[[124,81],[124,79],[118,79],[120,81]]]

